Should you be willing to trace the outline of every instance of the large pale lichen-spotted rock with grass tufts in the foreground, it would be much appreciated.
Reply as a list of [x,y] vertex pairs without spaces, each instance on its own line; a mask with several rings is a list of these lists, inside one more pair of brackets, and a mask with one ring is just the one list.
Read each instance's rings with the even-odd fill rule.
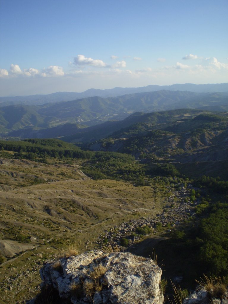
[[73,304],[162,304],[161,269],[149,258],[129,252],[90,251],[41,270],[42,286],[55,288]]

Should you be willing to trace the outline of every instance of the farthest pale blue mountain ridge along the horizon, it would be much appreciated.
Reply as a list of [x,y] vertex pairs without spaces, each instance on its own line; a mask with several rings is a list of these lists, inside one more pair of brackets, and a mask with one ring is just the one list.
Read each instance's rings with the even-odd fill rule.
[[43,105],[45,103],[53,102],[65,102],[74,99],[87,98],[98,96],[102,98],[117,97],[125,94],[154,92],[161,90],[169,91],[189,91],[197,93],[209,93],[209,92],[228,92],[228,83],[220,84],[205,84],[195,85],[192,83],[186,84],[174,84],[174,85],[147,85],[145,87],[138,88],[112,88],[112,89],[88,89],[84,92],[56,92],[47,95],[30,95],[30,96],[5,96],[0,97],[0,106],[6,105]]

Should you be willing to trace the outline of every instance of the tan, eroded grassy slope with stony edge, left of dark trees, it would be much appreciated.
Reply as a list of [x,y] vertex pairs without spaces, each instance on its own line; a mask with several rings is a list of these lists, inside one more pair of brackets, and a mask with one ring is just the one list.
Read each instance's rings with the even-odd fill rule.
[[[81,251],[100,247],[105,239],[119,244],[123,237],[133,246],[142,237],[159,237],[168,224],[178,225],[194,212],[185,203],[189,189],[92,180],[78,164],[1,159],[0,174],[0,249],[7,258],[0,265],[1,304],[33,298],[39,269],[70,241],[80,240]],[[145,225],[149,235],[129,237]]]

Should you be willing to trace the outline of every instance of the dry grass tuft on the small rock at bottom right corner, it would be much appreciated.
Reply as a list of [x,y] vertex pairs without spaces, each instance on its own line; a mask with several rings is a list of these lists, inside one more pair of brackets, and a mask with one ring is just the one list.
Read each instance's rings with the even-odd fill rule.
[[203,275],[201,281],[195,280],[200,286],[203,286],[212,298],[222,298],[227,291],[227,282],[225,277],[208,277]]

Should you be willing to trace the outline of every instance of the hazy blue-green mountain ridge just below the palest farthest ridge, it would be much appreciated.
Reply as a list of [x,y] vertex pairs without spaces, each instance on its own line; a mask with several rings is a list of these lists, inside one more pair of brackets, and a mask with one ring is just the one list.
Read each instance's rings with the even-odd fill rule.
[[[121,121],[133,112],[183,108],[227,112],[228,93],[161,90],[109,98],[95,96],[45,105],[9,105],[0,108],[0,131],[4,137],[69,136],[78,133],[81,127],[95,126],[105,121]],[[87,131],[80,130],[84,135]]]

